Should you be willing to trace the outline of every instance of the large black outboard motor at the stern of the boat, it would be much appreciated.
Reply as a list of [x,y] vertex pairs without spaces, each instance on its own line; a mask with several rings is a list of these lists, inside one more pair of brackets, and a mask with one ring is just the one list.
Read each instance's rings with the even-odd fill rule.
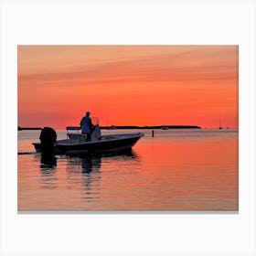
[[42,155],[50,156],[54,154],[54,144],[57,140],[57,133],[50,127],[44,127],[39,137],[41,141]]

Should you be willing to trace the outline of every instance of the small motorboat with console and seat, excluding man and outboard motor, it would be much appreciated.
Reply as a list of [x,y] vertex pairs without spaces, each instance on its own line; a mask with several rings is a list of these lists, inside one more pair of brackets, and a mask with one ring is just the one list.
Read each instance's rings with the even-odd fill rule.
[[[53,143],[54,154],[79,155],[88,153],[108,153],[131,149],[144,133],[116,133],[101,135],[101,128],[95,125],[91,140],[80,133],[79,126],[68,126],[67,139]],[[54,130],[53,130],[54,131]],[[42,142],[42,141],[41,141]],[[33,143],[37,152],[42,151],[41,143]]]

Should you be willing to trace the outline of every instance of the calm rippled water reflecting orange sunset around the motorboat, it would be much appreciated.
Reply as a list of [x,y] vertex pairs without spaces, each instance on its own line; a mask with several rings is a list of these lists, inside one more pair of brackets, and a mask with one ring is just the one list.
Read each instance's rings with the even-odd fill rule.
[[[132,131],[102,131],[102,133]],[[238,210],[238,130],[144,130],[125,155],[57,155],[41,164],[18,132],[19,211]],[[58,131],[58,139],[65,138]]]

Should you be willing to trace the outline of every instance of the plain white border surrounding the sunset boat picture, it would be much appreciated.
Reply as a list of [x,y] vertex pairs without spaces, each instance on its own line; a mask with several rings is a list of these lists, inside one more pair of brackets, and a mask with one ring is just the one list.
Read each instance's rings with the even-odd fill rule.
[[[255,255],[255,2],[1,2],[1,255]],[[239,214],[17,214],[17,44],[240,46]]]

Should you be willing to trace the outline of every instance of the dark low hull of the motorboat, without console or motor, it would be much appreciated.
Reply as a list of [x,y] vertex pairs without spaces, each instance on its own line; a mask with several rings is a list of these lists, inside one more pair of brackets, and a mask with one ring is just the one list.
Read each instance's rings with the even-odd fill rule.
[[[143,133],[105,135],[94,142],[72,142],[61,140],[55,144],[55,154],[78,155],[88,153],[109,153],[132,148],[144,136]],[[41,152],[41,144],[34,143],[37,152]]]

